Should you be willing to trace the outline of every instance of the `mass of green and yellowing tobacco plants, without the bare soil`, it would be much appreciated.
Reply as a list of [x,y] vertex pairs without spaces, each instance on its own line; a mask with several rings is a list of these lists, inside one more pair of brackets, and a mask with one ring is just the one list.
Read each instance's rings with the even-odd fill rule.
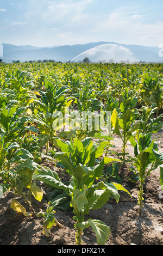
[[[102,208],[110,196],[118,203],[120,190],[131,196],[121,184],[101,179],[107,165],[112,170],[116,163],[125,166],[128,141],[134,148],[132,161],[139,177],[139,215],[143,184],[158,167],[163,186],[163,154],[151,139],[163,125],[162,64],[2,63],[0,92],[0,198],[11,189],[15,196],[22,196],[30,211],[16,199],[11,208],[24,216],[43,216],[46,236],[52,225],[62,227],[55,218],[60,207],[73,211],[77,245],[82,245],[82,231],[90,226],[98,245],[106,243],[110,227],[101,220],[85,221],[85,215]],[[101,123],[96,129],[95,119],[108,112],[106,134]],[[92,114],[91,129],[89,122],[81,129],[82,113]],[[103,124],[108,124],[108,115],[103,117]],[[73,128],[66,130],[70,123]],[[110,156],[114,134],[122,138],[117,158]],[[43,166],[42,159],[61,166],[70,182]],[[43,197],[37,181],[53,188],[46,212],[35,212],[32,205],[33,197],[40,202]]]

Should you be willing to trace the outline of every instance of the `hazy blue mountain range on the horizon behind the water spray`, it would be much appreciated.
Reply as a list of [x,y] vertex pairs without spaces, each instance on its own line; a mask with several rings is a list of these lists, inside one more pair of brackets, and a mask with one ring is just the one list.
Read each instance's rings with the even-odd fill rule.
[[[35,47],[35,46],[16,46],[11,44],[3,45],[3,56],[0,54],[0,58],[3,62],[11,63],[12,60],[20,60],[20,62],[30,60],[44,60],[52,59],[56,62],[69,62],[72,59],[76,59],[77,56],[82,58],[87,57],[87,52],[96,50],[97,47],[102,45],[117,45],[121,48],[128,50],[136,60],[142,62],[159,62],[163,63],[163,57],[159,56],[159,47],[150,47],[142,45],[125,45],[117,44],[116,42],[90,42],[89,44],[78,44],[78,45],[64,45],[64,46],[53,46],[53,47]],[[98,54],[99,58],[101,57]],[[112,56],[111,56],[112,57]],[[90,57],[89,57],[90,58]],[[108,58],[108,57],[107,57]],[[112,59],[112,58],[109,58]],[[109,61],[106,59],[106,62]],[[83,59],[81,59],[83,60]],[[90,58],[91,60],[91,58]]]

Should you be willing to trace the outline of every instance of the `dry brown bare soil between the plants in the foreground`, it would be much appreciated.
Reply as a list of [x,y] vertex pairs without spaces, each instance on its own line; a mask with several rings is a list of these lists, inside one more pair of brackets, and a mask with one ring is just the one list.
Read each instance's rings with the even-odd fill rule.
[[[163,151],[162,130],[153,135],[159,145],[159,150]],[[121,139],[115,136],[114,150],[121,152]],[[133,147],[128,143],[127,151],[129,156],[134,157]],[[116,203],[110,198],[108,202],[99,210],[92,210],[86,218],[97,218],[110,226],[111,234],[106,245],[163,245],[163,191],[159,181],[159,169],[153,171],[144,186],[144,201],[142,214],[138,214],[137,194],[139,191],[139,181],[131,182],[129,177],[132,172],[126,168],[120,169],[120,177],[123,178],[123,186],[130,192],[120,192],[120,202]],[[51,166],[54,168],[54,166]],[[58,172],[60,168],[55,169]],[[44,196],[41,202],[33,199],[33,207],[36,212],[45,211],[48,202],[46,193],[48,188],[45,184],[40,184]],[[10,208],[14,192],[6,192],[0,200],[0,245],[76,245],[72,210],[62,211],[56,209],[57,220],[64,225],[64,228],[53,226],[52,235],[46,237],[42,233],[43,217],[24,217],[23,214],[15,212]],[[21,197],[16,198],[24,205]],[[27,206],[24,205],[27,209]],[[28,209],[27,209],[28,211]],[[96,246],[96,235],[91,228],[85,229],[82,236],[83,245]]]

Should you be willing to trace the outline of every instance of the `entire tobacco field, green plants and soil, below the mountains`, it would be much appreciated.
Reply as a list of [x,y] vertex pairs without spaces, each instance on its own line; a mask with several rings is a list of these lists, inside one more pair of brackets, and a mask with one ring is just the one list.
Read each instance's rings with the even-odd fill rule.
[[162,64],[1,63],[0,245],[163,245],[162,108]]

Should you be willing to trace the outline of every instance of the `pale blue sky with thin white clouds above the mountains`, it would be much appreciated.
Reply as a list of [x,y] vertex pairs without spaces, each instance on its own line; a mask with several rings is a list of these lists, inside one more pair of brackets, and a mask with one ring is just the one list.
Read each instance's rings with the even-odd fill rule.
[[0,43],[163,44],[162,0],[0,0]]

